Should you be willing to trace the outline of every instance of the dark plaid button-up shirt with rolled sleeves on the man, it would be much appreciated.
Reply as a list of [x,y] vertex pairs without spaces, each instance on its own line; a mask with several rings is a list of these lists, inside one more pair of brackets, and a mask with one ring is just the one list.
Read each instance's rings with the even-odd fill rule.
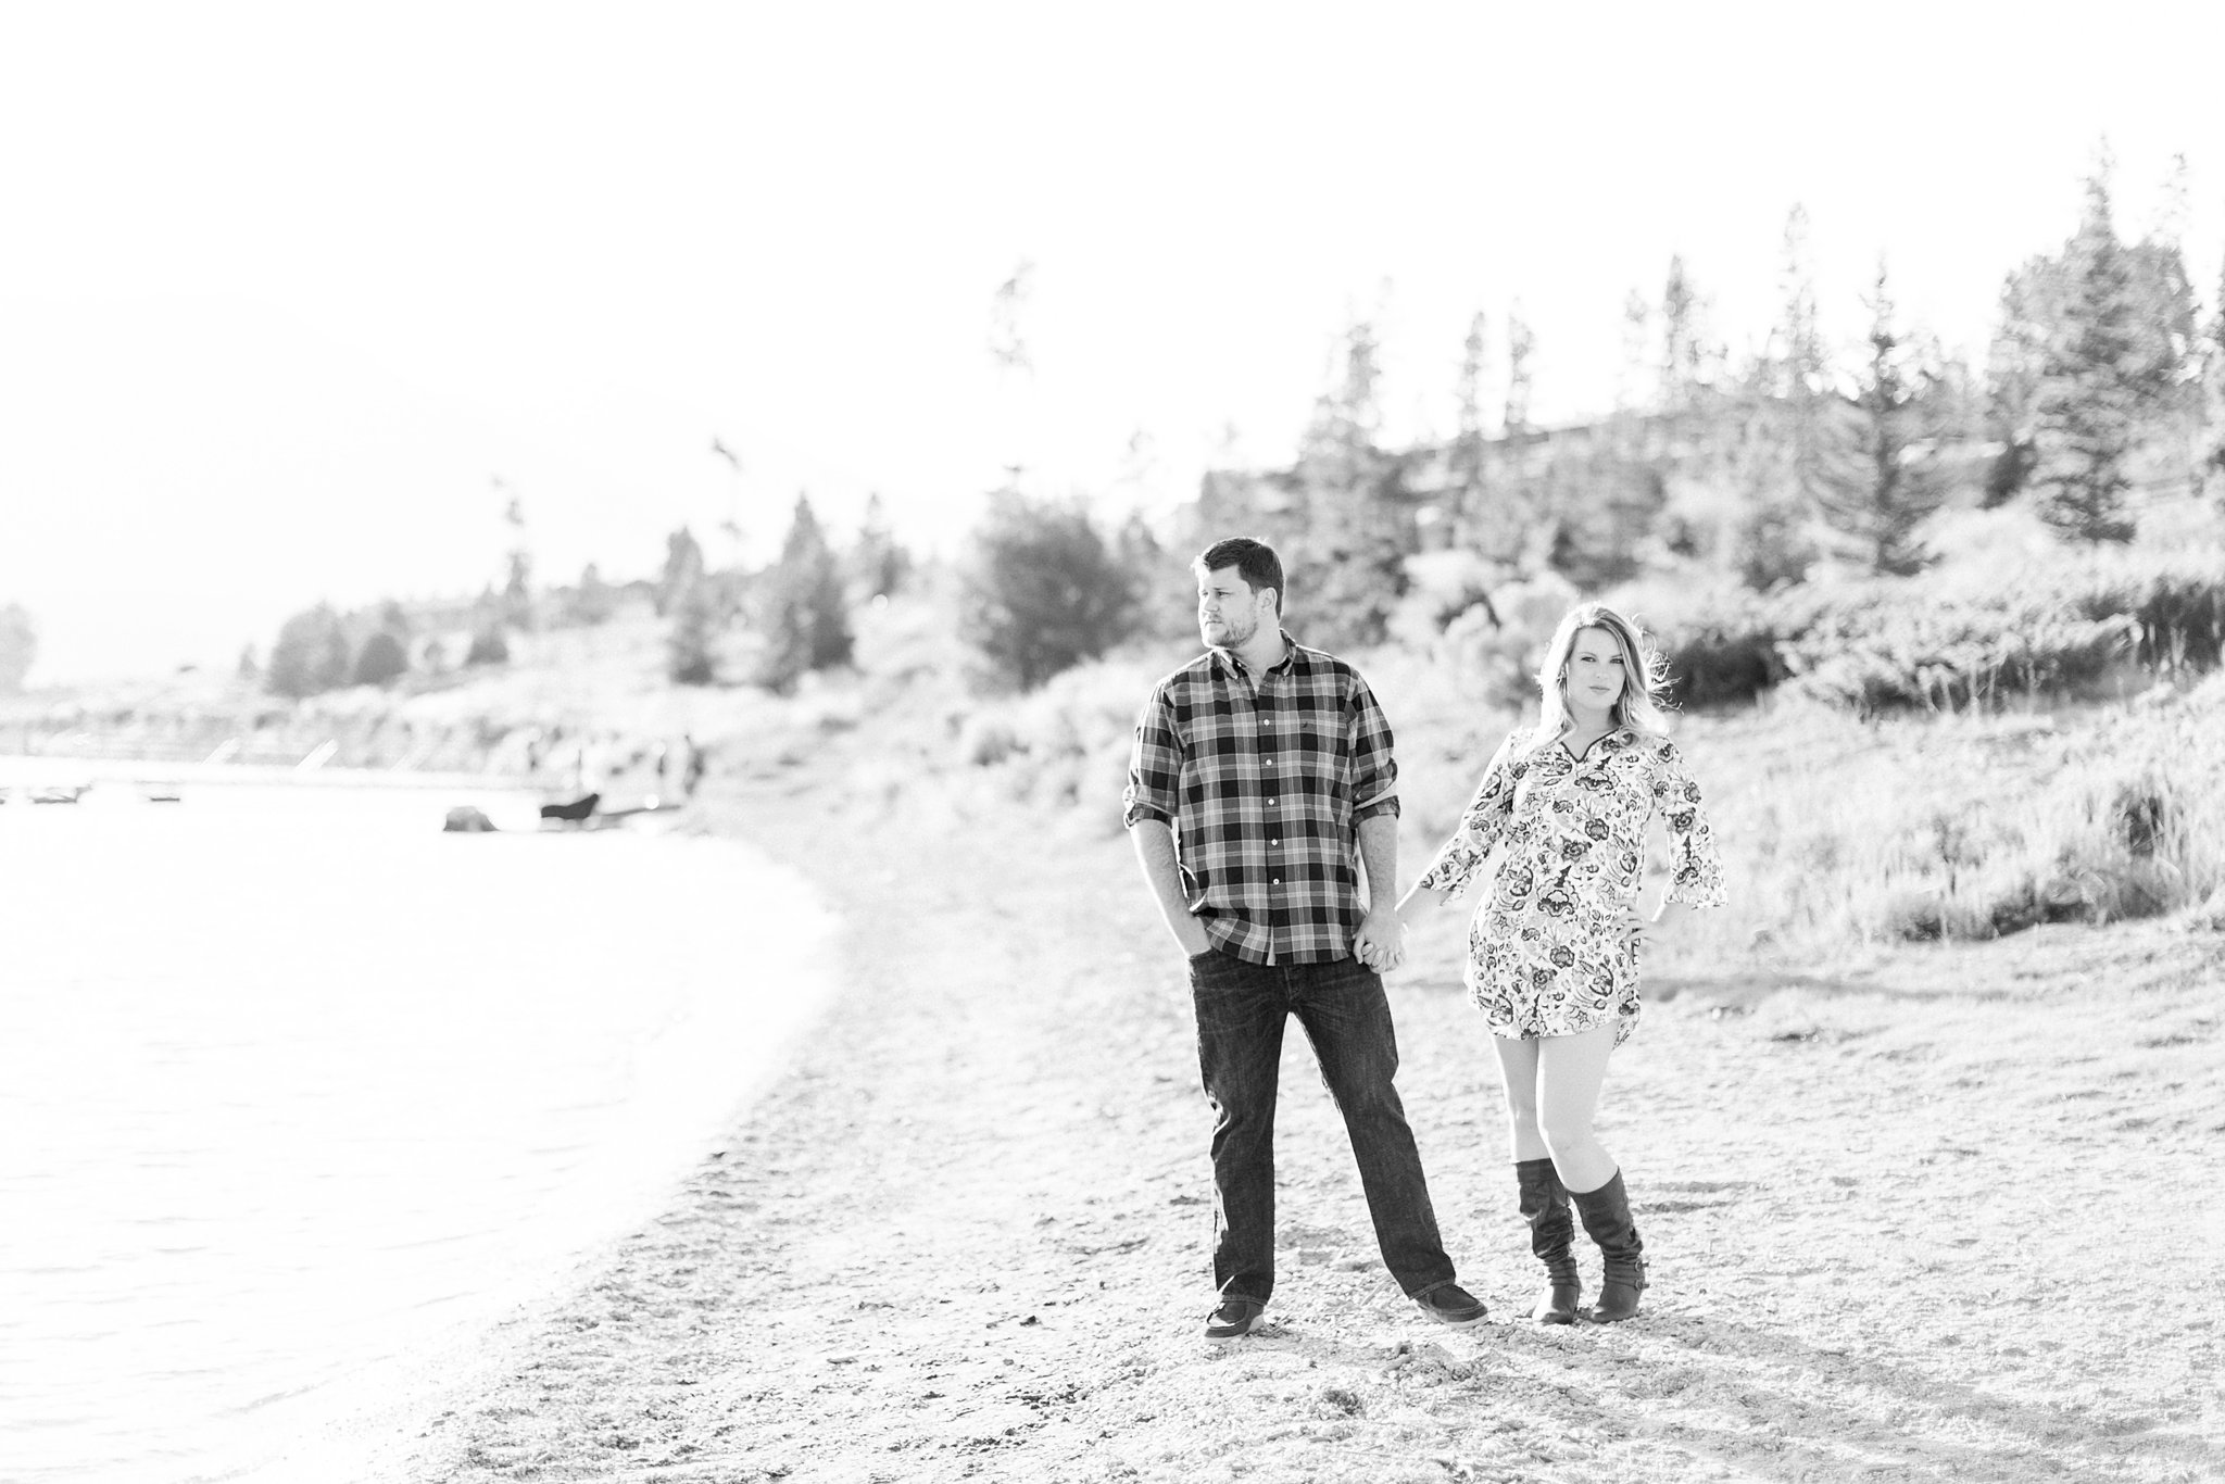
[[1257,685],[1222,650],[1159,681],[1135,723],[1126,823],[1173,825],[1184,897],[1217,946],[1331,963],[1353,952],[1357,830],[1397,814],[1397,763],[1359,672],[1282,641]]

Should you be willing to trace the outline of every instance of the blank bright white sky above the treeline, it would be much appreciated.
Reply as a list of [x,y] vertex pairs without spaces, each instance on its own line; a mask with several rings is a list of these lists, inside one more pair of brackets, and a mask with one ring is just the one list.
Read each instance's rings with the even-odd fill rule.
[[496,478],[552,578],[799,489],[948,547],[1008,461],[1164,509],[1290,454],[1351,314],[1400,438],[1513,300],[1533,412],[1606,405],[1671,251],[1758,340],[1793,202],[1827,332],[1887,251],[1982,358],[2103,136],[2127,234],[2187,156],[2214,303],[2225,7],[1796,11],[7,4],[0,603],[33,683],[229,663],[496,578]]

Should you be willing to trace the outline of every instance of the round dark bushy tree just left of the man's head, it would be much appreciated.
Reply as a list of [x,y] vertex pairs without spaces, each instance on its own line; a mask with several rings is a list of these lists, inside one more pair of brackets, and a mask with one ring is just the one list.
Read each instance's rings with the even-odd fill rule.
[[1079,501],[999,489],[975,527],[959,632],[995,674],[1035,690],[1135,627],[1135,590]]

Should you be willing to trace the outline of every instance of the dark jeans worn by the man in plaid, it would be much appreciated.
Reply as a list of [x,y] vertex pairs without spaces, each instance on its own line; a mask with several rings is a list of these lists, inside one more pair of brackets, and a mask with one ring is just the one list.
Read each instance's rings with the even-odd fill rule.
[[1275,1095],[1282,1028],[1306,1028],[1344,1115],[1375,1241],[1411,1295],[1453,1282],[1422,1155],[1391,1079],[1397,1035],[1384,981],[1359,959],[1266,968],[1213,950],[1190,959],[1197,1068],[1213,1101],[1213,1282],[1224,1297],[1275,1293]]

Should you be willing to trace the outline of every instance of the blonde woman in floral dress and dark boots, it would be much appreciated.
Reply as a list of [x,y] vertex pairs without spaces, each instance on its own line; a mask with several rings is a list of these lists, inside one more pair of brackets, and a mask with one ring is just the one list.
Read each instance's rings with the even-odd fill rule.
[[[1500,743],[1460,830],[1400,903],[1402,923],[1442,910],[1504,845],[1468,928],[1466,983],[1506,1081],[1531,1250],[1551,1275],[1531,1310],[1544,1324],[1573,1324],[1584,1295],[1571,1201],[1604,1259],[1589,1317],[1638,1313],[1644,1248],[1591,1119],[1606,1055],[1638,1026],[1640,943],[1691,908],[1722,906],[1700,790],[1662,734],[1662,665],[1629,619],[1600,603],[1571,610],[1537,667],[1537,728]],[[1669,825],[1673,870],[1646,919],[1638,886],[1655,814]]]

